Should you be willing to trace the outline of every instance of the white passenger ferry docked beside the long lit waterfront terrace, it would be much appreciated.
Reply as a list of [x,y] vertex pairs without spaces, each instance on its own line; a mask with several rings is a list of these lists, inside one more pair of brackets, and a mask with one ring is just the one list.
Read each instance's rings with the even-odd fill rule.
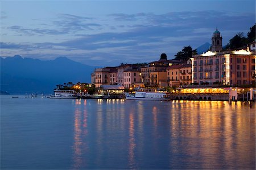
[[170,94],[164,89],[139,89],[135,93],[127,93],[126,99],[138,100],[170,100]]

